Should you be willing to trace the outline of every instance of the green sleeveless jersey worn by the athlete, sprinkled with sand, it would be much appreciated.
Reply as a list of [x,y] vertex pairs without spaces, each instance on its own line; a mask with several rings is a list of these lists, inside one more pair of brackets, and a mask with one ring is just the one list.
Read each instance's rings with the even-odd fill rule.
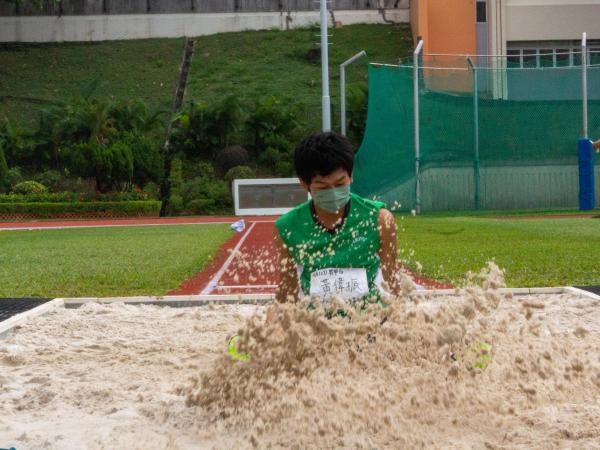
[[310,292],[313,272],[331,268],[366,270],[369,293],[378,297],[380,269],[379,210],[382,202],[350,194],[346,218],[336,230],[327,230],[313,217],[312,201],[302,203],[275,222],[291,258],[298,266],[300,287]]

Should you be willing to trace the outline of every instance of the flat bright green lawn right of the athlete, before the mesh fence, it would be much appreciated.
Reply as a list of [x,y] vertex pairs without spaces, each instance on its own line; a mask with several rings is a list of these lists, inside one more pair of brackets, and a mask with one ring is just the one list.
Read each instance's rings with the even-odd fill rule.
[[401,258],[460,284],[489,260],[511,287],[600,284],[600,219],[398,217]]

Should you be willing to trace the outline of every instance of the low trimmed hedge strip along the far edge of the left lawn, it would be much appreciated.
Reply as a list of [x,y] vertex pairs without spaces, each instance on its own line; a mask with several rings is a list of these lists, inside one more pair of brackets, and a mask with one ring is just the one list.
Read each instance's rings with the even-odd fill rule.
[[29,202],[0,203],[0,219],[157,217],[161,203],[129,202]]

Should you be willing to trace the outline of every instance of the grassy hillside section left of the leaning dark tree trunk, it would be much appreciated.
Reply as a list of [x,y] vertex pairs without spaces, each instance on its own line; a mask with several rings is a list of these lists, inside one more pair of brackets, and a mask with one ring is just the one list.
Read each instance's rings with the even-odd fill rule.
[[183,43],[142,39],[0,45],[0,118],[32,123],[43,107],[6,96],[64,101],[81,94],[95,77],[100,98],[142,99],[151,108],[168,109]]

